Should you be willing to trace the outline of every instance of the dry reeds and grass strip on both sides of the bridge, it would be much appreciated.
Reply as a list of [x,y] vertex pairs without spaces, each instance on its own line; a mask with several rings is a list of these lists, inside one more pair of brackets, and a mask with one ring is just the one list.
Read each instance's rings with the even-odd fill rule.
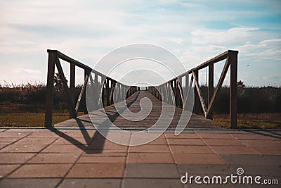
[[[41,83],[0,85],[0,127],[44,126],[45,89]],[[207,87],[202,87],[202,94],[207,99]],[[240,87],[237,96],[238,127],[281,129],[280,87]],[[229,88],[222,87],[214,106],[214,121],[222,127],[229,127],[228,100]],[[84,105],[81,103],[80,111]],[[53,123],[68,119],[65,93],[59,87],[54,92],[54,111]]]

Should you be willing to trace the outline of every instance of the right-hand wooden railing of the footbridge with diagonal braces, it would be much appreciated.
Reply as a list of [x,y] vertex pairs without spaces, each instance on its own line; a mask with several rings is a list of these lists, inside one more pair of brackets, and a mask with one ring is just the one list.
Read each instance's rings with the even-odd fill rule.
[[[213,118],[213,108],[214,102],[216,100],[216,96],[218,91],[221,89],[221,85],[223,84],[223,80],[226,77],[226,73],[228,72],[228,68],[230,66],[230,128],[237,128],[237,54],[238,51],[228,50],[223,54],[220,54],[214,58],[211,58],[209,61],[198,65],[196,68],[192,68],[177,77],[155,87],[149,87],[148,91],[151,92],[157,99],[166,102],[168,104],[172,104],[171,101],[171,92],[174,93],[174,101],[175,105],[181,108],[185,106],[185,96],[188,96],[188,92],[190,91],[190,87],[192,87],[192,82],[195,82],[195,101],[194,101],[194,113],[200,112],[200,106],[204,113],[205,118],[212,119]],[[214,63],[218,61],[222,61],[226,59],[226,63],[224,64],[223,71],[218,80],[218,84],[216,88],[214,88]],[[198,82],[199,75],[198,70],[202,68],[209,68],[209,84],[208,84],[208,103],[205,104],[202,92],[200,89],[200,84]],[[189,82],[189,75],[191,75]],[[183,87],[181,86],[183,77],[185,78],[185,91],[183,91]],[[170,87],[169,87],[170,86]],[[171,88],[171,89],[170,89]],[[164,94],[164,97],[160,95],[160,92]],[[183,93],[187,95],[183,95]],[[162,99],[163,98],[163,99]]]

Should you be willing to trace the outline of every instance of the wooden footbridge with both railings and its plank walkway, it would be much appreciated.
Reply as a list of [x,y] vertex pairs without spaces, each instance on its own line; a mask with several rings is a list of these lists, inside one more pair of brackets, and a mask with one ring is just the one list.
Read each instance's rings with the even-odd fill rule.
[[[63,88],[67,96],[67,104],[69,105],[70,120],[63,123],[58,123],[56,127],[79,127],[77,120],[81,120],[83,127],[93,127],[93,124],[103,122],[103,118],[95,118],[91,122],[86,107],[84,108],[85,115],[77,118],[79,104],[81,99],[86,100],[86,87],[87,84],[91,84],[93,87],[93,101],[102,101],[103,108],[107,117],[110,118],[112,123],[117,127],[123,129],[145,129],[151,127],[157,122],[162,105],[170,106],[171,108],[176,106],[173,120],[169,125],[169,129],[174,129],[178,124],[178,120],[181,117],[185,106],[188,103],[188,99],[185,96],[189,96],[189,92],[192,92],[194,88],[194,108],[191,109],[192,116],[188,123],[188,128],[218,128],[216,123],[212,122],[213,108],[216,100],[216,96],[223,84],[223,80],[226,77],[226,73],[230,67],[230,128],[237,127],[237,54],[238,51],[226,51],[209,61],[198,65],[196,68],[188,70],[188,72],[178,75],[173,79],[154,87],[147,87],[147,91],[140,91],[139,87],[129,86],[118,82],[97,70],[93,70],[89,66],[80,63],[79,61],[62,54],[60,51],[48,50],[48,78],[47,78],[47,90],[46,90],[46,114],[45,114],[45,126],[52,126],[53,115],[53,92],[54,92],[54,73],[55,66],[58,70],[60,78],[63,82]],[[60,59],[70,63],[70,87],[67,85],[67,80],[63,72]],[[221,76],[214,87],[214,63],[226,60],[224,64]],[[78,99],[74,99],[74,87],[75,87],[75,68],[79,67],[84,70],[84,84],[81,87],[81,92]],[[207,104],[203,99],[202,92],[199,84],[198,71],[202,68],[208,67],[209,69],[209,85],[208,85],[208,99]],[[100,81],[99,81],[100,80]],[[182,81],[185,80],[185,87],[182,86]],[[171,88],[171,89],[169,89]],[[100,95],[98,92],[100,91]],[[160,94],[161,93],[161,94]],[[117,95],[114,97],[114,94]],[[185,95],[184,95],[185,94]],[[83,97],[84,95],[84,97]],[[124,96],[122,98],[122,96]],[[172,98],[173,96],[174,98]],[[133,113],[141,111],[140,101],[144,97],[147,97],[152,101],[152,111],[147,118],[140,121],[130,121],[122,118],[115,108],[115,104],[126,99],[126,104],[129,110]],[[113,100],[115,99],[115,101]],[[174,99],[172,101],[171,99]],[[76,103],[75,103],[76,102]],[[93,111],[93,110],[96,110]],[[91,113],[95,114],[99,112],[99,109],[91,109]],[[199,114],[199,115],[198,115]],[[169,116],[169,115],[166,115]],[[93,124],[92,124],[93,123]],[[81,126],[80,126],[81,127]]]

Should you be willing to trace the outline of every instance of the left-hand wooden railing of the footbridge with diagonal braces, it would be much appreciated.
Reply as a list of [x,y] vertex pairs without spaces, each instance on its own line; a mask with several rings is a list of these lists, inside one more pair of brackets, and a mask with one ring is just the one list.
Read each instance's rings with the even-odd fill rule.
[[[73,58],[66,56],[65,54],[62,54],[60,51],[48,49],[47,52],[48,52],[48,75],[47,75],[47,87],[46,87],[45,127],[52,126],[55,66],[58,70],[60,79],[63,83],[64,91],[66,93],[67,104],[69,106],[69,111],[70,111],[70,118],[77,118],[78,108],[82,96],[84,96],[84,100],[86,100],[86,87],[88,82],[91,82],[91,85],[93,86],[93,90],[94,90],[93,92],[96,94],[94,95],[94,97],[96,98],[94,100],[97,102],[102,101],[103,105],[105,105],[106,102],[105,106],[110,106],[114,102],[116,103],[121,99],[124,99],[121,96],[125,96],[126,98],[128,98],[129,96],[131,96],[131,94],[133,94],[138,90],[138,87],[127,86],[125,84],[117,82],[116,80],[107,77],[96,70],[93,70],[89,66],[84,65],[83,63],[80,63],[79,61],[76,61]],[[70,87],[68,87],[67,85],[67,80],[65,78],[65,74],[63,73],[63,68],[60,64],[60,59],[70,63]],[[74,88],[75,88],[76,66],[84,69],[84,84],[81,87],[80,94],[75,104]],[[100,77],[101,80],[100,82],[98,82],[98,77]],[[101,86],[101,84],[103,84],[103,86]],[[100,96],[98,96],[98,94],[100,93],[98,89],[101,89]],[[113,101],[114,91],[115,94],[117,94],[117,97],[115,97],[116,101]],[[100,99],[100,97],[102,99]],[[84,113],[88,113],[86,109],[86,104],[84,108]]]

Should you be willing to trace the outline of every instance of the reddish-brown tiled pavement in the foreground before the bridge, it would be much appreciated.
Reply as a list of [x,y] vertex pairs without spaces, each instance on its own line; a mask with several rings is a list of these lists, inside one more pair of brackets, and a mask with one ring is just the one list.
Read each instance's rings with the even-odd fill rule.
[[180,180],[237,168],[280,186],[281,131],[166,131],[148,144],[121,146],[93,129],[0,129],[0,187],[278,187]]

